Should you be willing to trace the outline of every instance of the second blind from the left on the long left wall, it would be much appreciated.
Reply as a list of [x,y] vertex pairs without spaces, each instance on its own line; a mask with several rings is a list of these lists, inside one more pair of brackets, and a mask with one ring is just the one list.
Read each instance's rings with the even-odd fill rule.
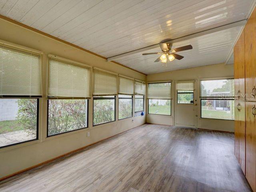
[[90,81],[90,67],[49,58],[48,97],[90,98]]

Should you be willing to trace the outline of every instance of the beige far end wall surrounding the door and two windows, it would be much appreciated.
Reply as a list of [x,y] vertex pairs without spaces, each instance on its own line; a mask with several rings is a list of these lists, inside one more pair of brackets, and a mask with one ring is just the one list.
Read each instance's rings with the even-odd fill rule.
[[[234,132],[234,121],[232,120],[214,120],[214,119],[202,119],[200,118],[200,79],[205,78],[223,78],[233,77],[234,67],[233,65],[216,64],[209,66],[202,66],[196,68],[189,68],[183,70],[175,70],[170,72],[163,72],[158,74],[151,74],[147,76],[147,82],[151,81],[165,81],[172,80],[172,115],[152,115],[147,114],[146,122],[153,124],[165,124],[175,125],[175,83],[182,80],[195,80],[195,100],[197,100],[197,128],[209,129],[209,130],[222,130],[228,132]],[[184,114],[185,116],[186,114]]]

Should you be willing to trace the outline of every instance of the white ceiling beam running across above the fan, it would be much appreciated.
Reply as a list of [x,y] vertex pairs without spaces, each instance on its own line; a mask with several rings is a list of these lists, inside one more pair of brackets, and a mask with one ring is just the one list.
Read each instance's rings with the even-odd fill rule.
[[[205,31],[202,31],[202,32],[190,34],[190,35],[187,35],[187,36],[184,36],[184,37],[176,38],[176,39],[166,41],[166,42],[163,42],[163,43],[169,43],[169,44],[170,43],[176,43],[176,42],[188,40],[188,39],[191,39],[191,38],[196,38],[196,37],[199,37],[199,36],[202,36],[202,35],[218,32],[218,31],[225,30],[225,29],[229,29],[229,28],[232,28],[232,27],[244,26],[246,24],[246,22],[247,22],[247,19],[237,21],[237,22],[234,22],[234,23],[230,23],[230,24],[220,26],[220,27],[216,27],[216,28],[208,29],[208,30],[205,30]],[[129,56],[129,55],[144,52],[144,51],[148,51],[148,50],[158,48],[158,47],[159,47],[158,44],[148,46],[148,47],[144,47],[144,48],[137,49],[137,50],[134,50],[134,51],[130,51],[130,52],[127,52],[127,53],[123,53],[123,54],[120,54],[120,55],[112,56],[110,58],[107,58],[107,61],[112,61],[112,60],[115,60],[115,59],[118,59],[118,58],[122,58],[122,57],[125,57],[125,56]]]

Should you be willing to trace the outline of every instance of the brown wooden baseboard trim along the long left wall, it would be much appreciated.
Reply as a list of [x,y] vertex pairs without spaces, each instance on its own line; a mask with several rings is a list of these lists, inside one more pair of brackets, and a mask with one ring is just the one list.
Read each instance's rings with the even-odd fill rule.
[[[144,124],[146,124],[146,123],[144,123]],[[142,125],[144,125],[144,124],[141,124],[141,125],[138,125],[138,126],[142,126]],[[136,126],[136,127],[138,127],[138,126]],[[124,132],[127,132],[127,131],[129,131],[129,130],[132,130],[132,129],[136,128],[136,127],[130,128],[130,129],[128,129],[128,130],[125,130],[125,131],[123,131],[123,132],[120,132],[120,133],[118,133],[118,134],[115,134],[115,135],[113,135],[113,136],[110,136],[110,137],[108,137],[108,138],[104,138],[104,139],[99,140],[99,141],[97,141],[97,142],[88,144],[88,145],[86,145],[86,146],[80,147],[80,148],[75,149],[75,150],[72,150],[72,151],[67,152],[67,153],[65,153],[65,154],[63,154],[63,155],[60,155],[60,156],[57,156],[57,157],[55,157],[55,158],[46,160],[46,161],[44,161],[44,162],[42,162],[42,163],[39,163],[39,164],[36,164],[36,165],[34,165],[34,166],[28,167],[28,168],[26,168],[26,169],[20,170],[20,171],[18,171],[18,172],[13,173],[13,174],[4,176],[4,177],[0,178],[0,181],[6,180],[6,179],[11,178],[11,177],[13,177],[13,176],[16,176],[16,175],[18,175],[18,174],[24,173],[24,172],[26,172],[26,171],[28,171],[28,170],[30,170],[30,169],[36,168],[36,167],[38,167],[38,166],[41,166],[41,165],[43,165],[43,164],[52,162],[52,161],[54,161],[54,160],[56,160],[56,159],[62,158],[62,157],[64,157],[64,156],[67,156],[67,155],[69,155],[69,154],[72,154],[72,153],[74,153],[74,152],[77,152],[77,151],[79,151],[79,150],[82,150],[82,149],[87,148],[87,147],[89,147],[89,146],[95,145],[95,144],[97,144],[97,143],[99,143],[99,142],[102,142],[102,141],[104,141],[104,140],[110,139],[110,138],[112,138],[112,137],[114,137],[114,136],[117,136],[117,135],[122,134],[122,133],[124,133]]]

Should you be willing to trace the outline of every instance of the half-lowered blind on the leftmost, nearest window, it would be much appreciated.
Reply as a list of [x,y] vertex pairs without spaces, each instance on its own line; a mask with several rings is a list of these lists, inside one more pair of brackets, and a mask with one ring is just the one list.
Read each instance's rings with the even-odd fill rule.
[[42,54],[0,44],[0,95],[42,96]]

